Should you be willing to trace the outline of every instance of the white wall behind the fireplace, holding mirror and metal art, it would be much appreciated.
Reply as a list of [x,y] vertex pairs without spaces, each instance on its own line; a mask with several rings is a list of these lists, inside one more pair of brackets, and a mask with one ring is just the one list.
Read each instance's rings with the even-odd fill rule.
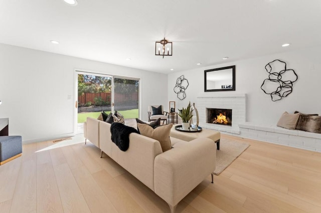
[[[168,75],[169,101],[176,101],[176,107],[182,108],[189,101],[196,102],[196,97],[204,93],[204,70],[236,65],[236,90],[206,92],[213,97],[220,94],[246,93],[246,121],[276,124],[284,111],[298,110],[304,113],[321,114],[320,80],[321,80],[321,49],[318,47],[290,51],[262,57],[200,67],[186,71],[178,71]],[[268,73],[265,65],[274,59],[285,61],[288,69],[294,69],[298,80],[294,82],[293,91],[287,97],[273,102],[269,95],[261,90],[261,84]],[[180,100],[173,88],[176,79],[184,74],[189,81],[186,98]],[[196,106],[197,107],[197,106]]]

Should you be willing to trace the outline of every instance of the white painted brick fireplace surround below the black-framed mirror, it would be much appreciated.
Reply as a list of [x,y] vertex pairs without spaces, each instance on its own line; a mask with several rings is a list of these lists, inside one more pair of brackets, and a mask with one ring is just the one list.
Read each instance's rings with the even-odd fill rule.
[[[216,95],[211,92],[199,94],[196,108],[199,112],[199,125],[204,128],[215,129],[234,134],[240,134],[239,124],[246,118],[246,94],[222,94]],[[206,122],[206,108],[232,109],[232,126]]]

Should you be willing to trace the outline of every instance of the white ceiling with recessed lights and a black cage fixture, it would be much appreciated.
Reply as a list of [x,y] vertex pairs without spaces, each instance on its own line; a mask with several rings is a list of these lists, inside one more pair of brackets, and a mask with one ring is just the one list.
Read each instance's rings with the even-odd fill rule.
[[[154,55],[164,37],[173,56]],[[0,43],[164,73],[321,45],[320,37],[320,0],[0,0]]]

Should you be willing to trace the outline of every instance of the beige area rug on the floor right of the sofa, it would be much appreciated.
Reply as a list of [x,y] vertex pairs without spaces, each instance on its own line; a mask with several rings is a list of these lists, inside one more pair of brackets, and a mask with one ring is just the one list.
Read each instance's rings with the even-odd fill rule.
[[219,175],[249,146],[250,144],[232,139],[221,139],[220,150],[216,150],[216,169],[214,174]]

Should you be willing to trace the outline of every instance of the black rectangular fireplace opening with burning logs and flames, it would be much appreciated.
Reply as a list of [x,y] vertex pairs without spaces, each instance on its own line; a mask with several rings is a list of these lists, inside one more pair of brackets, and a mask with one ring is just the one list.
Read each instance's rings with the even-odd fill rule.
[[232,109],[206,108],[206,122],[232,126]]

